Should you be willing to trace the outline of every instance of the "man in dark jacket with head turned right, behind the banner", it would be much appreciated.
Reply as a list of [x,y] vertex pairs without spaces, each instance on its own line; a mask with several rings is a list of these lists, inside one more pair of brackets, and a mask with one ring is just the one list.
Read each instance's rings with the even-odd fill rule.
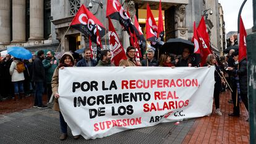
[[114,66],[114,64],[111,62],[111,57],[111,53],[108,49],[101,51],[100,61],[96,67]]

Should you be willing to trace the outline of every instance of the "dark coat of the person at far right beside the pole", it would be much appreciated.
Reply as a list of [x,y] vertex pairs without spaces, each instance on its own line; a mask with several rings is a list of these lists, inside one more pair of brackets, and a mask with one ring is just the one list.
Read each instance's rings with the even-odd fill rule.
[[239,69],[237,70],[239,76],[239,85],[241,93],[247,95],[247,61],[243,59],[239,62]]

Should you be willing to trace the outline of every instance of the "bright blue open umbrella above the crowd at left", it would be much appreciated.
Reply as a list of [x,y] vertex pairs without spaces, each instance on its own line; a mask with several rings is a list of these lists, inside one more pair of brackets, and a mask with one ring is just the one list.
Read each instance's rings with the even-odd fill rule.
[[18,59],[31,59],[32,53],[27,49],[19,46],[14,46],[7,49],[7,53]]

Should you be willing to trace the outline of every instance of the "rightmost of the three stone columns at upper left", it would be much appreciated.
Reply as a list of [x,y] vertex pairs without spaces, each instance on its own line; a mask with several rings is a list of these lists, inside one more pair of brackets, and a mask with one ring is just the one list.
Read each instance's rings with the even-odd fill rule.
[[43,40],[43,1],[30,0],[30,38],[29,41]]

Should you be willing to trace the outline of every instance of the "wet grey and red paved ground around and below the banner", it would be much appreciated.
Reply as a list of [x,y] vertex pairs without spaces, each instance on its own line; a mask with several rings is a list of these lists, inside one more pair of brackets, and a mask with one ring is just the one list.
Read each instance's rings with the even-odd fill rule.
[[[109,137],[60,141],[59,114],[52,109],[32,108],[33,98],[0,102],[0,143],[249,143],[247,112],[241,106],[240,117],[229,117],[233,104],[229,104],[229,92],[221,93],[221,111],[187,121],[167,122],[127,130]],[[46,101],[46,96],[44,96]],[[7,109],[4,109],[7,108]],[[23,109],[23,110],[22,110]],[[22,110],[22,111],[21,111]],[[16,111],[16,112],[14,112]]]

